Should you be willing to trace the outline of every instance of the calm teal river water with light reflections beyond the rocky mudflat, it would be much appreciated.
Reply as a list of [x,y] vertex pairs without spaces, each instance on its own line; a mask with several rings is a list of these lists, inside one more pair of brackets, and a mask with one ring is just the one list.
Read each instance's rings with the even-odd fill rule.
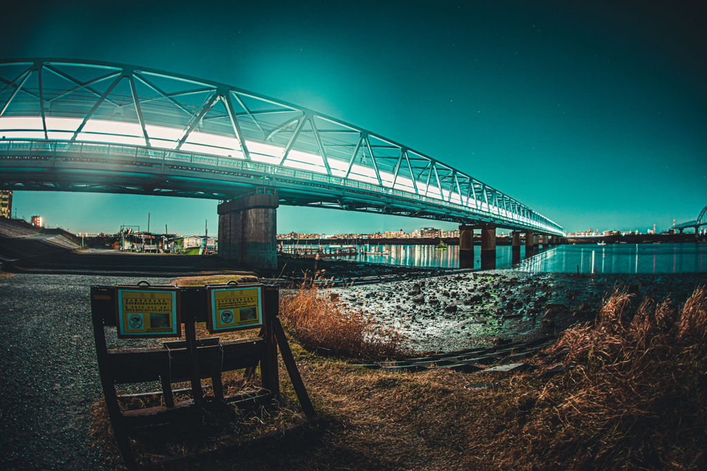
[[[423,268],[459,268],[459,246],[438,250],[433,245],[380,245],[346,260]],[[474,269],[481,269],[480,249],[474,247]],[[560,245],[540,249],[513,263],[510,246],[496,246],[496,269],[556,273],[700,273],[707,272],[707,244],[597,244]]]

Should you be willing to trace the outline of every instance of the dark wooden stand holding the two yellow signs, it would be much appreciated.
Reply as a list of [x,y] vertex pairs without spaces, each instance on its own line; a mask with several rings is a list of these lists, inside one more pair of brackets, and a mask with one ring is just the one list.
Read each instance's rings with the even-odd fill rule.
[[[226,285],[216,285],[215,288]],[[228,285],[231,286],[231,285]],[[228,403],[237,407],[249,405],[267,405],[273,398],[280,397],[280,378],[278,367],[278,350],[282,356],[292,386],[295,390],[303,412],[307,417],[314,417],[316,411],[309,398],[307,389],[297,369],[295,358],[290,350],[285,332],[278,316],[279,288],[270,285],[238,285],[238,287],[261,287],[262,294],[262,326],[254,338],[221,341],[218,338],[196,338],[195,323],[208,318],[206,311],[206,287],[149,287],[143,285],[91,286],[90,304],[93,319],[93,336],[95,339],[96,358],[100,373],[105,407],[110,418],[110,424],[115,434],[118,449],[129,469],[136,469],[135,453],[129,439],[129,431],[133,427],[177,423],[190,420],[204,420],[204,414],[209,414],[205,407],[213,404]],[[236,286],[234,286],[236,287]],[[117,315],[119,290],[137,292],[175,292],[179,321],[185,323],[185,340],[163,342],[163,347],[110,349],[105,339],[105,326],[119,323]],[[184,296],[180,292],[184,291]],[[113,299],[115,298],[115,300]],[[180,304],[185,302],[184,316]],[[250,327],[249,327],[250,328]],[[179,330],[181,332],[181,328]],[[220,330],[221,332],[223,330]],[[163,335],[163,333],[160,333]],[[155,338],[156,335],[148,335]],[[126,338],[126,337],[123,337]],[[127,338],[140,338],[128,335]],[[253,392],[245,391],[237,395],[225,396],[221,375],[225,371],[245,369],[245,377],[260,369],[262,388]],[[201,379],[211,378],[211,390],[215,403],[206,401]],[[191,383],[192,399],[175,402],[173,382],[189,381]],[[119,398],[132,398],[137,395],[117,395],[115,386],[127,383],[153,383],[159,381],[164,406],[148,407],[137,410],[121,410]]]

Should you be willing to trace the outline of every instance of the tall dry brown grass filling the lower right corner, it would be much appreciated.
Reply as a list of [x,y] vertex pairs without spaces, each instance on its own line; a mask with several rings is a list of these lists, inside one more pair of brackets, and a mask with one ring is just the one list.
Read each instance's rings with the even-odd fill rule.
[[504,461],[527,470],[704,469],[707,292],[681,309],[617,289],[548,352],[577,366],[519,385]]

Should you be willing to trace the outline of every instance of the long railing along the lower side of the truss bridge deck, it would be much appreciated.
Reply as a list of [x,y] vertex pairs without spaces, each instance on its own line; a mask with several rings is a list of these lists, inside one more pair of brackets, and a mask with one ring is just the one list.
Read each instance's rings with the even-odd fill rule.
[[[464,205],[452,201],[446,201],[443,198],[419,195],[417,193],[393,189],[387,186],[369,184],[363,181],[341,177],[332,177],[327,174],[309,172],[303,169],[293,169],[291,167],[283,167],[281,165],[268,164],[265,162],[255,162],[252,160],[244,160],[230,156],[223,157],[186,152],[184,150],[148,148],[138,145],[90,141],[33,141],[17,139],[1,140],[0,153],[3,151],[5,153],[22,152],[28,153],[28,155],[32,155],[33,153],[42,153],[49,157],[56,157],[57,153],[74,153],[79,156],[84,154],[100,154],[105,155],[109,159],[111,157],[129,157],[134,161],[156,160],[162,164],[173,163],[174,165],[180,166],[207,165],[209,167],[214,167],[215,169],[225,167],[228,169],[233,169],[234,171],[238,170],[241,172],[268,174],[271,177],[288,177],[291,179],[318,182],[320,184],[326,184],[327,186],[354,190],[359,193],[373,193],[378,196],[397,197],[402,201],[414,201],[416,203],[424,203],[426,205],[447,208],[448,210],[455,210],[459,213],[460,217],[469,217],[469,219],[506,223],[507,225],[513,225],[514,227],[534,229],[554,234],[563,233],[562,228],[559,225],[551,222],[546,217],[537,215],[537,213],[533,213],[537,217],[533,219],[474,198],[469,198],[469,204]],[[457,199],[461,200],[461,198],[462,196],[459,196]]]

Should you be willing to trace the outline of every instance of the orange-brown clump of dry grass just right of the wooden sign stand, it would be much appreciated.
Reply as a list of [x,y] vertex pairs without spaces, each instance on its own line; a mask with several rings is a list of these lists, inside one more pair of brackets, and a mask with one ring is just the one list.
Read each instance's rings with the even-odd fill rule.
[[390,359],[411,355],[406,338],[397,329],[382,326],[366,311],[347,311],[323,285],[309,278],[294,294],[281,297],[284,326],[313,352],[344,358]]

